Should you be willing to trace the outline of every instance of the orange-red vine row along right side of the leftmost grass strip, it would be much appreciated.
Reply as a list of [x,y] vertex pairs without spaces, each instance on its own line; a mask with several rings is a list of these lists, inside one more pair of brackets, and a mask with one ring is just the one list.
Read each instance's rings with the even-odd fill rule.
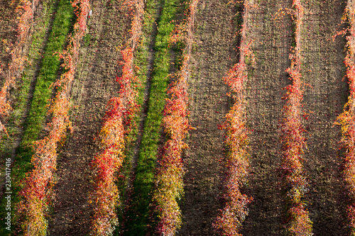
[[23,216],[23,235],[46,235],[48,227],[48,206],[53,196],[53,172],[57,166],[57,147],[64,140],[67,128],[71,128],[68,111],[70,108],[70,86],[74,80],[77,57],[79,56],[80,40],[85,34],[86,19],[89,13],[89,0],[73,1],[77,8],[77,23],[75,33],[70,36],[70,44],[60,54],[64,60],[62,67],[66,70],[60,79],[53,83],[57,90],[55,98],[50,103],[48,113],[52,120],[48,123],[49,134],[35,142],[35,154],[32,157],[34,169],[26,174],[23,189],[20,191],[21,201],[18,204],[18,214]]

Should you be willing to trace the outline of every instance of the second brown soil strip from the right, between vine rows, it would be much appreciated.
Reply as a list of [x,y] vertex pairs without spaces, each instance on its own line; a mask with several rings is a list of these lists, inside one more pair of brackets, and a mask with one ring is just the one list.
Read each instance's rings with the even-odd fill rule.
[[278,168],[281,145],[278,133],[284,102],[282,88],[290,84],[285,69],[292,39],[290,16],[274,20],[278,9],[290,8],[291,1],[261,1],[250,11],[250,38],[256,68],[249,72],[247,123],[251,131],[251,169],[246,193],[253,197],[243,235],[281,235],[282,203]]

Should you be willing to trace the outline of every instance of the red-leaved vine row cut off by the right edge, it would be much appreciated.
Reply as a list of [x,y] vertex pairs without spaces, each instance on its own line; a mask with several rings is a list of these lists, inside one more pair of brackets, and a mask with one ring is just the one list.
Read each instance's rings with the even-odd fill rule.
[[342,125],[342,147],[346,150],[344,154],[344,181],[349,195],[349,205],[347,215],[351,235],[355,235],[355,3],[352,0],[347,1],[343,21],[349,23],[349,27],[342,33],[348,33],[346,36],[346,57],[344,64],[346,66],[346,78],[349,82],[349,100],[344,105],[344,111],[337,117],[335,122]]

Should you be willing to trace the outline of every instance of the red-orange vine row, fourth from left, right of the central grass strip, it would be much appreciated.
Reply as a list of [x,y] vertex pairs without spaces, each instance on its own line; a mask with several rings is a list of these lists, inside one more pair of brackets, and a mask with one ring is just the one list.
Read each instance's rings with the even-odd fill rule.
[[182,163],[182,150],[187,145],[185,137],[190,130],[188,123],[188,94],[187,80],[190,78],[190,55],[193,42],[193,29],[198,0],[190,1],[188,18],[177,27],[175,35],[170,38],[171,43],[183,40],[185,49],[180,70],[175,74],[177,80],[170,84],[164,109],[163,126],[168,140],[163,146],[163,154],[155,179],[153,201],[155,213],[158,215],[156,227],[157,235],[175,235],[181,225],[181,210],[178,201],[183,195],[183,176],[185,174]]

